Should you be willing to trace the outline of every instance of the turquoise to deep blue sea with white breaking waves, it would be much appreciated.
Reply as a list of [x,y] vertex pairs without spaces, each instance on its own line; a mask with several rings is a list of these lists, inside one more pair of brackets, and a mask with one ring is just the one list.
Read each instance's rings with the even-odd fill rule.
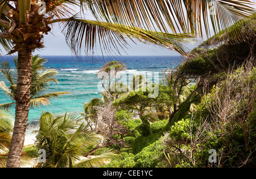
[[[141,74],[145,72],[162,72],[167,67],[174,67],[180,64],[180,56],[114,56],[114,57],[96,57],[93,60],[77,59],[73,56],[43,56],[48,61],[44,65],[49,69],[56,69],[59,73],[56,76],[59,84],[51,83],[46,93],[57,91],[67,91],[71,94],[65,94],[59,98],[52,99],[51,105],[30,109],[28,123],[38,122],[40,114],[43,111],[49,111],[55,114],[80,113],[83,111],[84,102],[89,102],[92,98],[101,97],[101,89],[98,88],[100,79],[96,72],[108,61],[117,60],[126,63],[127,73]],[[11,66],[14,66],[13,57],[2,56],[0,62],[8,60]],[[10,86],[2,73],[0,81],[4,81]],[[0,102],[11,102],[11,99],[0,89]],[[14,107],[11,113],[14,116]]]

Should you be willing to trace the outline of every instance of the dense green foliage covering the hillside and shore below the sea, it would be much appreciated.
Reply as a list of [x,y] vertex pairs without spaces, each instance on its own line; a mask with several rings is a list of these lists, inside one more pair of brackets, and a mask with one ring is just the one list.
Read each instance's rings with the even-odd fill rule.
[[[254,16],[251,20],[255,22]],[[148,82],[139,76],[135,85],[134,76],[133,91],[109,91],[111,86],[104,86],[102,99],[85,103],[80,116],[43,113],[36,149],[46,150],[47,162],[37,166],[256,166],[255,29],[245,23],[240,30],[247,30],[247,39],[209,39],[175,69],[164,71],[163,81],[151,84],[158,87],[155,97]],[[1,72],[4,66],[7,74],[8,64],[2,64]],[[118,73],[126,65],[105,64],[101,80],[113,68]],[[3,130],[10,127],[3,114],[0,149],[5,153],[0,153],[0,166],[5,165],[11,132]],[[89,155],[98,156],[81,160]]]

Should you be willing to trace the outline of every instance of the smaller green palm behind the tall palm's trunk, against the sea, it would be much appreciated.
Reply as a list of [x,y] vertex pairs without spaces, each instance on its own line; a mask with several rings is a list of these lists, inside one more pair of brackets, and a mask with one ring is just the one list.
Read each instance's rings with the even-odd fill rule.
[[[39,107],[44,105],[49,105],[49,100],[52,98],[60,97],[64,94],[69,94],[68,92],[55,92],[43,94],[48,88],[49,82],[58,82],[55,79],[57,71],[55,69],[46,69],[44,64],[47,62],[46,59],[35,55],[32,57],[32,82],[31,82],[31,97],[30,97],[30,107]],[[14,64],[16,69],[12,70],[8,61],[3,61],[0,65],[0,72],[5,75],[7,81],[10,84],[10,88],[7,88],[5,82],[0,82],[0,87],[13,102],[0,104],[0,109],[8,110],[10,107],[15,105],[14,99],[17,94],[17,59],[14,59]]]

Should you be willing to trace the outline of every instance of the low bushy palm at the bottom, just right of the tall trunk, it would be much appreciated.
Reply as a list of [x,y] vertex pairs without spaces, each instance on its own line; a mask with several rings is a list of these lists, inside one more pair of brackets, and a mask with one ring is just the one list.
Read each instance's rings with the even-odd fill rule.
[[36,136],[38,149],[46,151],[46,162],[37,167],[73,168],[98,166],[107,160],[117,158],[113,151],[105,152],[92,159],[81,159],[86,143],[97,143],[101,136],[88,129],[85,122],[73,114],[58,115],[44,113],[40,119],[40,129]]

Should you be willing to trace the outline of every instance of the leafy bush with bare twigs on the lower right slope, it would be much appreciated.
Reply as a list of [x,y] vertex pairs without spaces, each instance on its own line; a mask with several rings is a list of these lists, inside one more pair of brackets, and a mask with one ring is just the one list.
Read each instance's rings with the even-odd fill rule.
[[[255,84],[256,70],[249,65],[205,94],[196,113],[166,136],[168,166],[255,166]],[[217,163],[209,163],[210,149],[217,151]]]

